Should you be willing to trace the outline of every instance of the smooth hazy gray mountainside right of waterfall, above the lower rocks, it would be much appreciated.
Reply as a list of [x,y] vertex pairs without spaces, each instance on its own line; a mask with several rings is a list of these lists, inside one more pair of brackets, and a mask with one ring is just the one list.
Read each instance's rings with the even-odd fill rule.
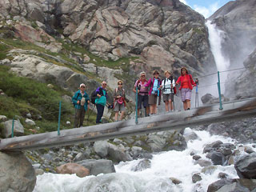
[[209,18],[226,32],[222,46],[233,66],[241,66],[256,46],[255,7],[254,0],[230,1]]

